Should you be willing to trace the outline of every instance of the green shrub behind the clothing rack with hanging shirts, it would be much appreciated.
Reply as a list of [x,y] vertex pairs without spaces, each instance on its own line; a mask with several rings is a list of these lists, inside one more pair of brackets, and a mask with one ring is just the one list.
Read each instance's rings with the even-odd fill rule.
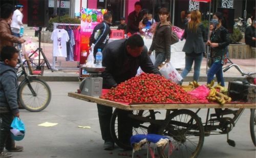
[[[58,23],[59,17],[55,17],[49,20],[49,31],[53,31],[53,22]],[[59,23],[65,24],[81,24],[81,19],[79,18],[71,18],[69,15],[60,16]]]

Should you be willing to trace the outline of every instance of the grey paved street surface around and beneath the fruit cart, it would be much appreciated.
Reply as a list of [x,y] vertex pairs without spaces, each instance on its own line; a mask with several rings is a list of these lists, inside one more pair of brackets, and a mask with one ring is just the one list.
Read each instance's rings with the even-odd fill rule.
[[[75,92],[78,89],[78,82],[48,82],[48,84],[51,87],[52,99],[45,110],[41,112],[20,110],[20,118],[26,125],[26,136],[16,144],[23,145],[25,149],[23,152],[13,152],[13,157],[127,158],[128,156],[118,156],[118,153],[132,154],[132,151],[122,151],[117,146],[113,154],[103,150],[96,104],[68,97],[68,92]],[[161,115],[157,114],[157,119],[163,119],[165,116],[165,111],[160,111]],[[206,110],[203,110],[199,116],[205,120],[203,116],[206,116]],[[205,137],[198,157],[255,157],[255,147],[249,132],[249,116],[250,111],[246,109],[229,134],[229,139],[236,141],[236,147],[226,143],[226,135]],[[58,123],[58,125],[37,126],[45,122]],[[78,126],[92,128],[84,129]],[[143,155],[145,152],[146,148],[143,148],[135,155],[146,157]]]

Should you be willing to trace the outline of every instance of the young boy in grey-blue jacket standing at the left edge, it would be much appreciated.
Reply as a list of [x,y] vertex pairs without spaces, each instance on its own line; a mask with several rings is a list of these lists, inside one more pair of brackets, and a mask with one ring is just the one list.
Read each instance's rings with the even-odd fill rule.
[[22,151],[22,146],[16,146],[11,137],[10,127],[13,116],[19,117],[17,104],[18,50],[11,46],[3,47],[0,62],[0,157],[11,157],[9,152]]

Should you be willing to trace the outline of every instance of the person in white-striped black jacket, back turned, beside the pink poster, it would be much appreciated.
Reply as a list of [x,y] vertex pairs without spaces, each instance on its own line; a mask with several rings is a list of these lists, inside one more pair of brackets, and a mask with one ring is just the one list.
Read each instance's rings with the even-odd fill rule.
[[106,44],[108,43],[111,30],[110,30],[110,24],[112,21],[112,15],[110,13],[105,13],[103,15],[103,21],[96,25],[93,29],[93,33],[90,37],[90,47],[94,43],[94,58],[96,57],[96,53],[98,52],[98,49],[101,49],[101,51],[104,49]]

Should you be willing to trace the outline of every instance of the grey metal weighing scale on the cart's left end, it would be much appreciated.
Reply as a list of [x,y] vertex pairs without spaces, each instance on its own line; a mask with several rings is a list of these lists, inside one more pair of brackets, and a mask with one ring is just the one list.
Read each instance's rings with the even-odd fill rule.
[[105,67],[84,67],[82,66],[84,71],[89,73],[89,77],[82,80],[79,85],[79,89],[81,94],[99,97],[102,93],[102,77],[99,75],[105,70]]

